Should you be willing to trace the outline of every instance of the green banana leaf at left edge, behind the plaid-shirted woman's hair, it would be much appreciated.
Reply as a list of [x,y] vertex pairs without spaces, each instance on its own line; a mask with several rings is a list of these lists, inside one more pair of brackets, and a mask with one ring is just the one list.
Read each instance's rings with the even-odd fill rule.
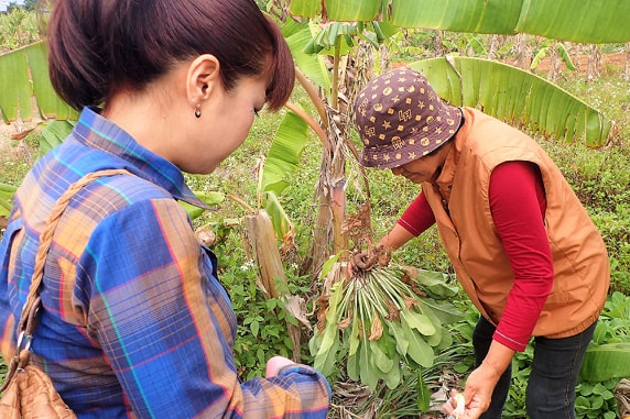
[[6,123],[18,118],[31,121],[36,113],[42,119],[77,118],[51,85],[43,42],[0,56],[0,113]]

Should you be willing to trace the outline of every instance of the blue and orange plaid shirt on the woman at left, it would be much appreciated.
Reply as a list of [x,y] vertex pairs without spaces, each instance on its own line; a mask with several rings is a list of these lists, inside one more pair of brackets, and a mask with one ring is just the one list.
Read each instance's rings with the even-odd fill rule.
[[93,109],[24,178],[0,244],[0,350],[13,355],[39,238],[84,175],[124,168],[70,201],[44,271],[32,361],[78,418],[325,418],[330,389],[305,366],[240,383],[236,317],[214,254],[177,202],[204,206],[170,162]]

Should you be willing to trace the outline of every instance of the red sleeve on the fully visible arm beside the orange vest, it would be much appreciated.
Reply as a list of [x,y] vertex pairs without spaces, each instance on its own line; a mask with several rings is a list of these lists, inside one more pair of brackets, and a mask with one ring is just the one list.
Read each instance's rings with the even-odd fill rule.
[[490,210],[514,272],[493,339],[524,351],[553,286],[553,260],[544,225],[546,200],[537,166],[508,162],[490,176]]

